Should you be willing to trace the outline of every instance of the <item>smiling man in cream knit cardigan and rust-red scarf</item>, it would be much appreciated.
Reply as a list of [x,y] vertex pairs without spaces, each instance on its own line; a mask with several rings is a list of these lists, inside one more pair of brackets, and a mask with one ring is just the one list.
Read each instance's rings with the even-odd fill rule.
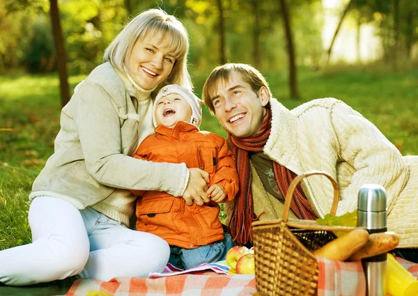
[[[364,184],[387,192],[387,223],[400,237],[399,255],[418,262],[418,157],[396,147],[357,111],[334,98],[288,110],[272,97],[263,75],[249,65],[215,68],[203,100],[228,132],[240,176],[235,202],[225,206],[234,240],[251,244],[251,221],[280,219],[288,185],[307,171],[325,171],[339,184],[337,215],[357,208]],[[291,217],[330,213],[333,187],[323,176],[302,180]]]

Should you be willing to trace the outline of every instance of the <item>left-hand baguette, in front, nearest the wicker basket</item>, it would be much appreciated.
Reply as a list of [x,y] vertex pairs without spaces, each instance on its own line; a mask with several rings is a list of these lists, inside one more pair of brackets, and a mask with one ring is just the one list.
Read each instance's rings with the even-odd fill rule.
[[368,240],[369,233],[362,228],[357,228],[328,242],[322,248],[314,251],[314,254],[330,260],[344,261],[361,249]]

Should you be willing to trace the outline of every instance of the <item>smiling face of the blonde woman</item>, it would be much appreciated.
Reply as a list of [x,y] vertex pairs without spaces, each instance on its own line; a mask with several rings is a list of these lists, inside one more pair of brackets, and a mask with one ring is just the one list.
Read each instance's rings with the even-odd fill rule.
[[166,42],[159,36],[139,38],[135,42],[129,59],[132,79],[139,87],[153,89],[166,79],[176,62]]

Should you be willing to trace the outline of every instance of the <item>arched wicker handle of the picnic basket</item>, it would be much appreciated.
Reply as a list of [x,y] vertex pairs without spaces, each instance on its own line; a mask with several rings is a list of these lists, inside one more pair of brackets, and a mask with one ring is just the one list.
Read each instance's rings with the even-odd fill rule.
[[331,214],[335,215],[336,213],[336,207],[339,202],[339,188],[338,184],[336,183],[336,180],[332,178],[330,175],[325,173],[325,171],[308,171],[307,173],[302,173],[302,175],[296,176],[296,178],[293,179],[291,182],[291,185],[289,185],[288,192],[286,192],[286,198],[284,200],[284,209],[283,209],[283,215],[281,217],[282,221],[285,223],[288,221],[289,217],[289,210],[291,209],[291,201],[293,198],[293,192],[295,191],[296,186],[302,181],[303,178],[311,175],[323,175],[327,177],[331,183],[332,187],[334,187],[334,199],[332,200],[332,206],[331,206]]

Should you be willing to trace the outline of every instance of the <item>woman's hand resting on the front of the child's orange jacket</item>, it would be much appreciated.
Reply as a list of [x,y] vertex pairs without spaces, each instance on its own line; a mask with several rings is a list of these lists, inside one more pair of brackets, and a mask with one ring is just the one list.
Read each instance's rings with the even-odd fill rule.
[[208,203],[210,198],[206,195],[208,191],[209,183],[209,174],[206,171],[201,169],[189,169],[189,182],[183,198],[185,199],[187,205],[192,205],[193,201],[197,205],[203,205],[203,203]]

